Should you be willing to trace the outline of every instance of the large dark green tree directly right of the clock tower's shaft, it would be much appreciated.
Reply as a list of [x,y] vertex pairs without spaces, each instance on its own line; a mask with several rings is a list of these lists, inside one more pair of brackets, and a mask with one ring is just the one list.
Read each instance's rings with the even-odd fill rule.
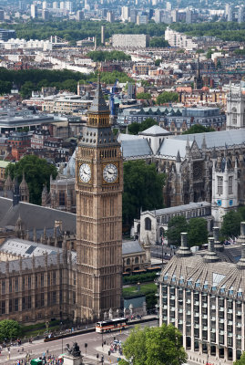
[[143,211],[163,207],[162,188],[165,174],[158,173],[154,163],[128,161],[124,163],[123,223],[132,224]]

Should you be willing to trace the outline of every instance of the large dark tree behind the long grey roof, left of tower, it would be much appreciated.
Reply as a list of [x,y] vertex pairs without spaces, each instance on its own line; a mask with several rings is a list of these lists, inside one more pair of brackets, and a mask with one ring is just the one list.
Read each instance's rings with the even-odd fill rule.
[[44,185],[49,189],[50,175],[56,178],[56,166],[36,155],[27,155],[19,162],[10,163],[5,169],[5,176],[10,173],[12,179],[16,177],[21,183],[23,172],[29,188],[30,203],[40,204]]

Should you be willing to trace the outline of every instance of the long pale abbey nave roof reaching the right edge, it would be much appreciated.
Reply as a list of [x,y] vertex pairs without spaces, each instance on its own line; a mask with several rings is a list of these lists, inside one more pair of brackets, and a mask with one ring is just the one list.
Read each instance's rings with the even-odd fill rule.
[[187,141],[189,138],[189,141],[196,140],[199,148],[201,148],[204,136],[208,149],[213,147],[224,147],[225,145],[233,146],[235,144],[244,144],[245,129],[241,128],[240,130],[220,130],[210,131],[209,133],[182,134],[179,136],[174,136],[172,140]]

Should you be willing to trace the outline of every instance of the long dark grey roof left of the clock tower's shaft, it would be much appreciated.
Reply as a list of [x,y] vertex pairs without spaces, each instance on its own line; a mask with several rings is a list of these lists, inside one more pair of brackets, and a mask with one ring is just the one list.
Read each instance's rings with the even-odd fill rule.
[[53,228],[58,220],[64,231],[76,233],[76,214],[24,202],[13,206],[11,199],[0,197],[0,227],[15,226],[19,216],[28,230]]

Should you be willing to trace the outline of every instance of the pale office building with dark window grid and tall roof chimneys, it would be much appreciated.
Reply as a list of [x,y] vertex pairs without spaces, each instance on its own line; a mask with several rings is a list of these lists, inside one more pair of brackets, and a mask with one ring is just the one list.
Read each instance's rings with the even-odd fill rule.
[[245,349],[244,244],[242,223],[233,264],[219,257],[224,251],[219,233],[209,238],[204,255],[193,255],[182,234],[179,250],[158,278],[159,325],[179,328],[189,359],[202,362],[199,355],[205,355],[207,362],[231,364]]

